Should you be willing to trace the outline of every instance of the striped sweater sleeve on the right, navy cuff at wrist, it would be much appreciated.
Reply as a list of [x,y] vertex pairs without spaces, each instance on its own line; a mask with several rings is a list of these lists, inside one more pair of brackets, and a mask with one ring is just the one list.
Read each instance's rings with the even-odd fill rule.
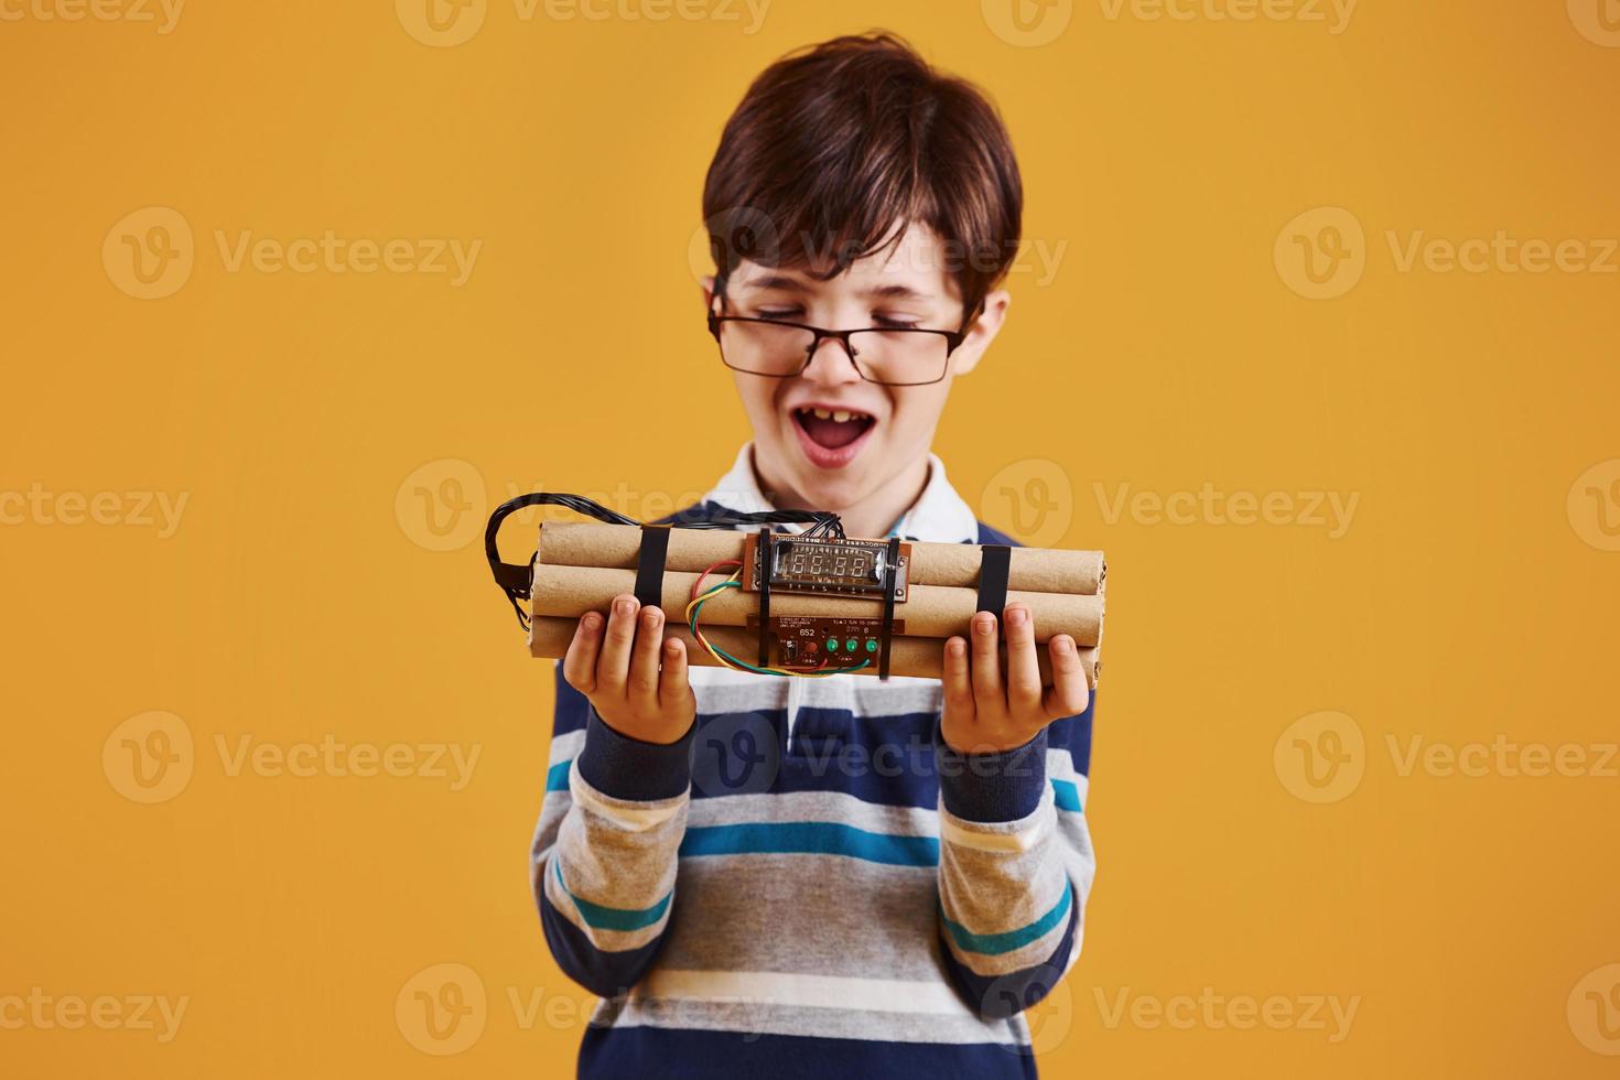
[[943,957],[987,1018],[1038,1002],[1081,954],[1097,870],[1084,813],[1095,701],[1016,750],[936,748]]

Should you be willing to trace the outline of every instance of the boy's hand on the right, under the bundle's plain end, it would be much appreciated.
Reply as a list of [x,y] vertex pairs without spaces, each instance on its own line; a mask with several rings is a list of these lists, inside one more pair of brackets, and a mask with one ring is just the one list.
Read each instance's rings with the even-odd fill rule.
[[1001,635],[990,612],[974,615],[970,646],[962,638],[944,643],[944,712],[940,733],[957,753],[1016,750],[1047,724],[1084,712],[1090,703],[1074,638],[1059,633],[1047,643],[1053,683],[1042,690],[1035,619],[1029,607],[1008,604],[1003,625],[1008,636],[1004,674],[996,649]]

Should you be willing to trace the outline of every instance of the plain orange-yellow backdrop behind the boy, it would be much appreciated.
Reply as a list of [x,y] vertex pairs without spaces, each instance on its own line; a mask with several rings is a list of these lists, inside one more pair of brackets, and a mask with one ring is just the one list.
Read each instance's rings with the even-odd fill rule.
[[[1586,989],[1620,960],[1620,779],[1400,761],[1502,735],[1594,764],[1617,738],[1620,466],[1581,478],[1620,458],[1620,275],[1403,272],[1387,238],[1620,235],[1596,0],[1364,0],[1336,34],[1325,5],[1090,0],[1047,10],[1068,19],[1047,44],[995,0],[774,0],[752,34],[719,0],[684,11],[735,21],[488,0],[454,47],[387,0],[193,0],[168,34],[42,2],[0,21],[0,491],[188,502],[167,538],[133,504],[0,526],[0,997],[190,1004],[168,1043],[0,1028],[0,1074],[572,1074],[586,994],[525,878],[551,672],[475,534],[510,492],[640,517],[731,463],[748,432],[690,261],[703,170],[771,58],[881,24],[991,91],[1027,183],[1035,269],[936,450],[982,517],[1113,568],[1100,874],[1037,1017],[1047,1075],[1614,1075]],[[115,225],[144,207],[194,235],[156,300],[118,280]],[[1317,207],[1364,230],[1327,300],[1286,259],[1330,244],[1311,217],[1285,235]],[[483,246],[462,287],[233,272],[215,232],[243,230]],[[1063,251],[1048,280],[1037,244]],[[1204,484],[1358,504],[1336,539],[1304,499],[1272,525],[1110,512],[1121,486]],[[152,711],[193,751],[143,805],[113,735]],[[1328,750],[1322,724],[1349,730],[1320,712],[1354,725],[1356,782],[1311,801],[1290,727]],[[245,735],[480,758],[463,790],[232,776],[217,740]],[[484,991],[457,1056],[408,1031],[411,980],[442,963]],[[1336,1043],[1115,1015],[1205,988],[1359,1004]]]

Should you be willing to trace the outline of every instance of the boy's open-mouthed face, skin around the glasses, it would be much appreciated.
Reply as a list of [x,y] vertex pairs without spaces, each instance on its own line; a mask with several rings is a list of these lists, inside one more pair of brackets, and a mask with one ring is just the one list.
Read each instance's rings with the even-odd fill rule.
[[[922,327],[957,330],[962,298],[946,248],[932,230],[907,227],[897,244],[821,282],[804,270],[744,261],[726,283],[724,314],[804,322],[828,330]],[[713,283],[710,283],[711,287]],[[705,295],[711,309],[718,301]],[[732,371],[753,426],[755,470],[766,491],[821,510],[859,505],[925,460],[956,376],[967,374],[995,338],[1006,291],[985,298],[941,381],[880,385],[862,379],[836,340],[823,340],[795,377]],[[859,340],[859,338],[857,338]]]

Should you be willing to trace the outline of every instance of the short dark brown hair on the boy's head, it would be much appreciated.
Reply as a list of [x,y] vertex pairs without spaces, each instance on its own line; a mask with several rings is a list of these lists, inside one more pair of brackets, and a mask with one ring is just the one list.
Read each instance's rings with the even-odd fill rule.
[[1022,210],[995,105],[886,32],[834,37],[766,68],[703,185],[721,280],[744,257],[826,280],[920,222],[944,243],[969,316],[1017,256]]

